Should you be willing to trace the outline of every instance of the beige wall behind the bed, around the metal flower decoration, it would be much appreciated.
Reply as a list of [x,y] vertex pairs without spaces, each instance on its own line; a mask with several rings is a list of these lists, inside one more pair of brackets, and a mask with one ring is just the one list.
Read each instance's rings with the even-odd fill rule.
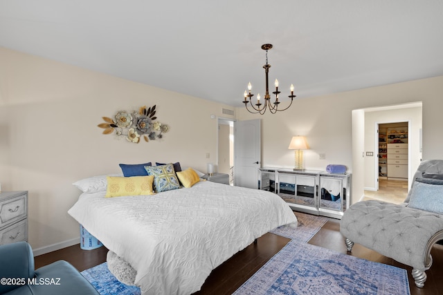
[[[29,191],[33,249],[78,242],[78,223],[66,213],[80,195],[75,180],[147,161],[206,172],[217,152],[211,115],[233,109],[4,48],[0,65],[1,189]],[[163,140],[132,144],[97,127],[102,116],[154,104],[158,120],[170,125]]]

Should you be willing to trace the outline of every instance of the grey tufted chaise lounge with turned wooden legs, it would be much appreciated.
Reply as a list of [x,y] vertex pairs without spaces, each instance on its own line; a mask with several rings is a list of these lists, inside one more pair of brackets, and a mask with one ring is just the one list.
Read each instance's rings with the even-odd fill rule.
[[431,248],[443,239],[442,178],[443,160],[426,160],[415,172],[404,203],[368,200],[352,204],[340,222],[347,251],[358,242],[409,265],[415,285],[424,287],[425,271],[432,265]]

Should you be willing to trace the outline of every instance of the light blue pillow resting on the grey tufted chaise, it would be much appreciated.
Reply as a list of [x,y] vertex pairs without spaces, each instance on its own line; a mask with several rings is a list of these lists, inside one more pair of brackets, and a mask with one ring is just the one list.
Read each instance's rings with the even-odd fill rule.
[[411,189],[408,207],[443,213],[443,180],[417,178]]

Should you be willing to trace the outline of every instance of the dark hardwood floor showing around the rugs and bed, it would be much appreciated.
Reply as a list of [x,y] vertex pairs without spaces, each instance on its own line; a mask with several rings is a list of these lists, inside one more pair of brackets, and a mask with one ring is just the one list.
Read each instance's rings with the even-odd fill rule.
[[[239,251],[222,265],[219,265],[206,279],[201,291],[195,294],[232,294],[242,283],[257,272],[267,260],[274,256],[289,239],[274,234],[265,234],[246,249]],[[411,241],[413,242],[413,241]],[[330,218],[318,233],[309,240],[309,244],[332,249],[346,254],[343,236],[340,234],[339,220]],[[95,265],[105,262],[107,249],[101,247],[93,250],[82,250],[79,245],[74,245],[58,251],[35,257],[35,268],[42,267],[56,260],[66,260],[74,265],[80,272]],[[443,246],[435,245],[431,251],[433,265],[426,271],[428,279],[424,288],[415,287],[410,275],[411,268],[397,263],[397,261],[381,256],[377,252],[366,249],[361,245],[354,245],[352,255],[367,260],[394,265],[407,269],[410,294],[443,295]]]

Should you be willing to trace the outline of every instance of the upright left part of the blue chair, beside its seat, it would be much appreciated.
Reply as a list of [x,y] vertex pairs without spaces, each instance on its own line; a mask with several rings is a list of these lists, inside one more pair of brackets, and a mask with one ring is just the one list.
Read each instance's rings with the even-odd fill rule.
[[[33,249],[27,242],[14,242],[0,246],[0,278],[28,278],[34,276]],[[21,285],[0,284],[0,294],[6,293]]]

